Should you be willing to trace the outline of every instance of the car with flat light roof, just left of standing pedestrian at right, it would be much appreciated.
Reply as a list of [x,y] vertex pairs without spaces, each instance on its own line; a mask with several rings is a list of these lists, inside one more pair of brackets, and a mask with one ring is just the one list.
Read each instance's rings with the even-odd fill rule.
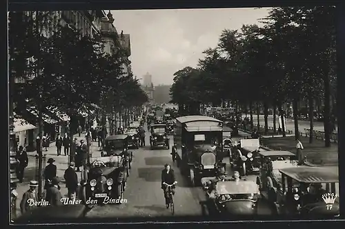
[[297,167],[295,154],[283,150],[260,151],[260,174],[257,177],[257,185],[262,197],[268,199],[268,191],[272,188],[282,186],[282,174],[279,172],[283,168]]

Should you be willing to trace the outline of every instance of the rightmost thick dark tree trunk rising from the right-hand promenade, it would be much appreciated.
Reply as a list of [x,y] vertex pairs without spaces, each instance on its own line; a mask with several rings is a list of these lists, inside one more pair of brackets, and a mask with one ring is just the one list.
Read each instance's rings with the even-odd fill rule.
[[324,63],[324,137],[325,147],[331,147],[331,88],[328,75],[328,63]]

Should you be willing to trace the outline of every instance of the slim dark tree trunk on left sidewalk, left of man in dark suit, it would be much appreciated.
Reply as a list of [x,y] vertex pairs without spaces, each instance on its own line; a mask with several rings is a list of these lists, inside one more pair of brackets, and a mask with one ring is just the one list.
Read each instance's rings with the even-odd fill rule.
[[38,175],[39,175],[39,190],[38,190],[38,197],[39,199],[43,198],[43,141],[42,141],[42,138],[43,138],[43,114],[42,114],[42,106],[41,104],[39,104],[38,106],[39,108],[39,146],[36,146],[37,148],[37,152],[38,152],[38,155],[39,155],[39,172],[38,172]]

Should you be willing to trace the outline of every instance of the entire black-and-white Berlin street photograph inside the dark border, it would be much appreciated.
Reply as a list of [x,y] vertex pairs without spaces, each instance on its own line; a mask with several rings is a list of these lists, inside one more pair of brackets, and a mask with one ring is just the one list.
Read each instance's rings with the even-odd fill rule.
[[336,219],[334,18],[9,12],[11,223]]

